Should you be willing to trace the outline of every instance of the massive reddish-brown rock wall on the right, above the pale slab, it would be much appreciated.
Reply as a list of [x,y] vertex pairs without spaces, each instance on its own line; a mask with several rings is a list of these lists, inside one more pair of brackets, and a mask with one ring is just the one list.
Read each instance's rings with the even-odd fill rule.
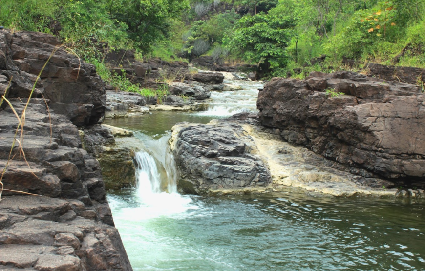
[[[345,95],[333,97],[326,89]],[[424,186],[425,95],[417,86],[315,72],[304,81],[272,79],[257,107],[272,133],[353,174]]]

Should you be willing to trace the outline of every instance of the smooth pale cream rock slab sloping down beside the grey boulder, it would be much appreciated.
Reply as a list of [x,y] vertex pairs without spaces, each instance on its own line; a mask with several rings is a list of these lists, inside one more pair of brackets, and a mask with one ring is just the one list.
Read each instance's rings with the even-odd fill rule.
[[262,127],[244,124],[244,130],[253,138],[258,155],[267,161],[273,187],[277,190],[284,186],[303,188],[311,192],[320,192],[336,197],[351,196],[395,196],[397,189],[383,189],[394,184],[376,178],[364,178],[346,172],[313,151],[293,146],[270,135]]

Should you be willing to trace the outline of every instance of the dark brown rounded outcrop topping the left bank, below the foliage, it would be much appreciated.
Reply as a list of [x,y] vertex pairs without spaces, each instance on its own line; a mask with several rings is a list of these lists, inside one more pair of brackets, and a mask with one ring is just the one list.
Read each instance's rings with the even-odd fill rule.
[[[33,85],[27,74],[37,76],[60,42],[56,38],[49,38],[50,43],[39,42],[45,41],[48,35],[36,32],[16,32],[10,37],[3,33],[2,36],[4,38],[0,40],[11,44],[8,54],[15,58],[18,64],[16,70],[30,67],[15,74],[10,71],[6,73],[7,77],[14,77],[8,96],[26,98]],[[19,61],[16,61],[18,58]],[[15,63],[11,66],[15,66]],[[11,70],[11,67],[8,69]],[[95,67],[80,62],[76,56],[64,50],[55,52],[37,86],[37,92],[50,100],[50,109],[66,116],[77,126],[95,124],[105,114],[105,84],[96,75]]]

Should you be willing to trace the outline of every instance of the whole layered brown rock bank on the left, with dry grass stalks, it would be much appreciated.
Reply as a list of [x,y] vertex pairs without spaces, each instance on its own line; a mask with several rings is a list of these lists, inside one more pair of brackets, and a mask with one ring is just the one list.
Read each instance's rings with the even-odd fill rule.
[[[0,269],[132,270],[99,162],[78,130],[103,118],[105,86],[94,66],[63,49],[43,69],[58,44],[46,34],[0,32],[0,94],[10,101],[0,108]],[[14,111],[25,117],[11,151]]]

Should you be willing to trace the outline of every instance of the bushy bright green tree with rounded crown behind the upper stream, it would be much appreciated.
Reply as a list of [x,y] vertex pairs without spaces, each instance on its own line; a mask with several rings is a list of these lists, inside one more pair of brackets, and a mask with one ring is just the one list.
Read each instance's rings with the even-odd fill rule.
[[228,48],[247,61],[269,68],[283,67],[287,61],[286,47],[291,39],[293,23],[283,16],[258,13],[245,15],[226,33]]

